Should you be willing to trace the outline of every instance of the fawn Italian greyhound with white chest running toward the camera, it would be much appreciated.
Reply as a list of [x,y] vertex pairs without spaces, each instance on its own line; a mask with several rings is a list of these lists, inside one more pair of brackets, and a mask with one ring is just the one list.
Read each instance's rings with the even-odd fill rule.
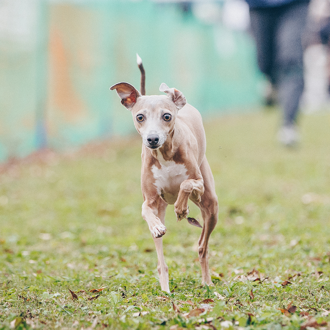
[[[143,75],[141,90],[144,91],[144,70],[141,70],[141,58],[137,57]],[[218,200],[205,156],[206,139],[200,113],[186,103],[179,90],[169,88],[165,83],[159,90],[167,95],[142,95],[127,82],[119,82],[110,89],[116,89],[121,104],[131,111],[135,128],[142,136],[142,217],[148,223],[156,246],[161,290],[170,292],[162,241],[166,232],[166,207],[174,204],[179,221],[189,214],[188,199],[200,208],[203,217],[198,241],[199,261],[202,282],[212,285],[208,242],[218,219]],[[194,218],[187,220],[199,225]]]

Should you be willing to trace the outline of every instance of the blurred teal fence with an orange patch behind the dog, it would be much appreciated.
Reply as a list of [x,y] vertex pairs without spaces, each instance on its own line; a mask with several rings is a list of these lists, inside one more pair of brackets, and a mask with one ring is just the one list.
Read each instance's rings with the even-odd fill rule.
[[175,3],[7,0],[0,3],[0,160],[74,149],[134,130],[109,87],[176,87],[203,116],[260,102],[247,33],[206,24]]

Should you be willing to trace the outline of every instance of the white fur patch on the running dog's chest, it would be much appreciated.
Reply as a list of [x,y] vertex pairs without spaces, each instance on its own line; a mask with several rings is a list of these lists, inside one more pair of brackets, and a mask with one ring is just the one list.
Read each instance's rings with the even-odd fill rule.
[[183,164],[168,161],[161,164],[160,169],[152,165],[151,171],[155,178],[157,193],[166,203],[174,204],[178,198],[180,184],[188,179],[186,167]]

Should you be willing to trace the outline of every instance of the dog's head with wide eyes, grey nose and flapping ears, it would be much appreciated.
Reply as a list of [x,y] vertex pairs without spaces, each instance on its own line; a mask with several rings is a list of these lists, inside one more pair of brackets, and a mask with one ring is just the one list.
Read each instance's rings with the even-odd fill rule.
[[183,94],[169,88],[165,83],[159,87],[166,95],[141,95],[127,82],[110,87],[116,89],[121,104],[131,111],[134,125],[142,136],[143,143],[150,149],[160,148],[174,130],[178,111],[186,104]]

